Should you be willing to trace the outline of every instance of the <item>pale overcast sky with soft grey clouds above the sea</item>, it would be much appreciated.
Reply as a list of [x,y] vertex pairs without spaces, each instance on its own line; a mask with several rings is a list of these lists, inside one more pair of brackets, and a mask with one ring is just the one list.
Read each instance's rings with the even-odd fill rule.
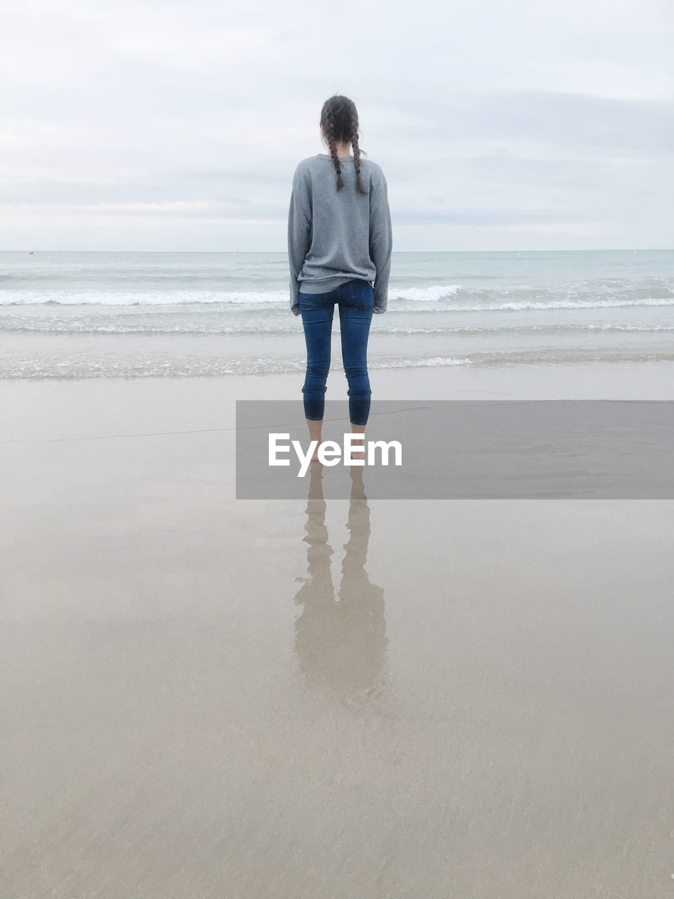
[[672,247],[672,46],[671,0],[3,0],[0,248],[285,251],[333,93],[395,250]]

